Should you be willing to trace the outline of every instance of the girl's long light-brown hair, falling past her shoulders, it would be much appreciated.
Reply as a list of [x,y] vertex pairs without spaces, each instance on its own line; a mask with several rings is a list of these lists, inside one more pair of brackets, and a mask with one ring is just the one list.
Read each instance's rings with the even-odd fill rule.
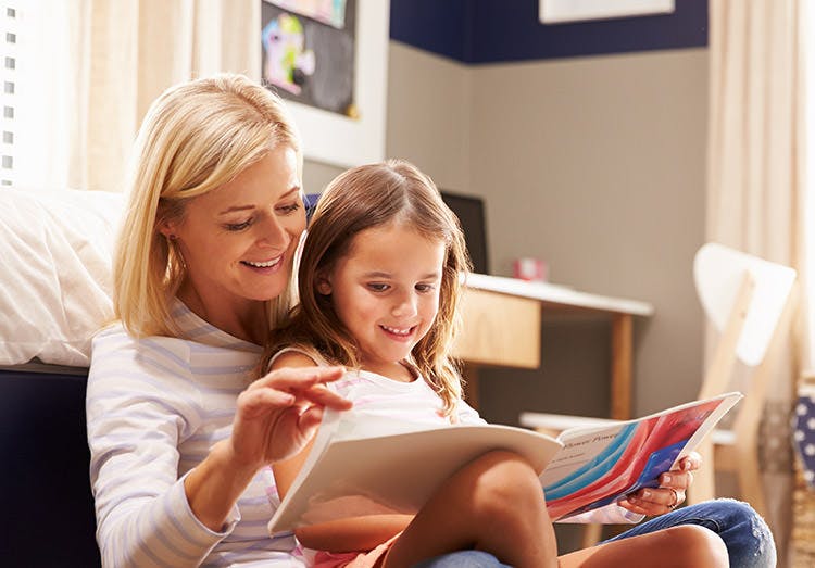
[[[300,304],[289,321],[273,331],[264,362],[286,345],[313,346],[327,361],[358,368],[358,344],[334,311],[330,296],[316,288],[343,257],[356,233],[388,224],[406,226],[446,245],[439,312],[413,348],[413,363],[450,415],[461,399],[462,378],[451,359],[460,326],[461,273],[469,269],[459,219],[441,200],[432,180],[401,160],[364,165],[340,174],[319,197],[309,225],[298,272]],[[265,368],[265,367],[262,367]]]

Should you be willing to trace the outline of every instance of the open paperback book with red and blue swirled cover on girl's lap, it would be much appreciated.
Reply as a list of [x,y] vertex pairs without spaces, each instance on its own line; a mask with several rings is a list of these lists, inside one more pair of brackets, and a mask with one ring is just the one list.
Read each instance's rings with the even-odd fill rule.
[[[566,520],[655,487],[660,474],[694,450],[741,397],[734,392],[635,420],[570,428],[557,439],[499,425],[415,430],[415,425],[360,422],[326,411],[268,530],[415,514],[450,476],[491,450],[523,455],[539,472],[550,516]],[[389,433],[373,433],[383,431]]]

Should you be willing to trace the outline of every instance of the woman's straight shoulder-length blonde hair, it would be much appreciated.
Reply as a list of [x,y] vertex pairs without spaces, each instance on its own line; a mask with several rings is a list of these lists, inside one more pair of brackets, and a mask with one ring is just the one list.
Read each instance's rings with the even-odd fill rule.
[[[188,200],[234,179],[269,150],[298,154],[300,137],[283,100],[242,75],[184,83],[159,97],[134,148],[128,207],[113,263],[116,317],[136,337],[177,336],[171,304],[186,267],[160,232],[184,218]],[[293,286],[267,302],[274,327],[291,305]]]

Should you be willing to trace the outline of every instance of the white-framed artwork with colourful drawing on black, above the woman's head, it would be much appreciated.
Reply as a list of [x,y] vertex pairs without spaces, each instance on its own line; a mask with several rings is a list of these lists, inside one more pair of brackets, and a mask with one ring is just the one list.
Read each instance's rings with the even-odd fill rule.
[[287,99],[310,160],[385,156],[389,2],[261,0],[261,77]]

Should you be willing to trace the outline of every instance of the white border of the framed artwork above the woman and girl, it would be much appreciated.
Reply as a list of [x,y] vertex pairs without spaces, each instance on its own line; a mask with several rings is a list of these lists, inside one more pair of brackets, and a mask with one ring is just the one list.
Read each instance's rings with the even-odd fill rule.
[[339,167],[384,160],[389,15],[390,2],[356,0],[354,102],[359,118],[286,101],[308,160]]

